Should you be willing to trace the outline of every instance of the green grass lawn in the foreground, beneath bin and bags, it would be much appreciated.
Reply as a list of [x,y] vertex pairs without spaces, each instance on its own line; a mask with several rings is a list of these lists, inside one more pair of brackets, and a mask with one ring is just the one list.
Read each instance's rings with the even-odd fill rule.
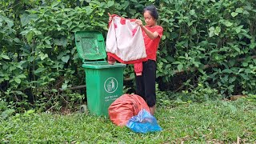
[[0,119],[10,143],[232,143],[256,142],[256,103],[204,102],[158,107],[161,132],[136,134],[108,118],[85,114],[21,114]]

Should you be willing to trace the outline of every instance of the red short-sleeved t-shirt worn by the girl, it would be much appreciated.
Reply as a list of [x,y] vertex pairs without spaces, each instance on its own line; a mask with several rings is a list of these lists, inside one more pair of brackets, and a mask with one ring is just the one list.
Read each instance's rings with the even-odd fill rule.
[[152,33],[155,31],[158,32],[159,36],[158,38],[150,39],[144,30],[142,30],[143,33],[143,38],[144,38],[144,43],[146,46],[146,56],[148,59],[156,61],[157,59],[157,50],[159,46],[159,42],[162,38],[162,26],[145,26],[148,30],[150,30]]

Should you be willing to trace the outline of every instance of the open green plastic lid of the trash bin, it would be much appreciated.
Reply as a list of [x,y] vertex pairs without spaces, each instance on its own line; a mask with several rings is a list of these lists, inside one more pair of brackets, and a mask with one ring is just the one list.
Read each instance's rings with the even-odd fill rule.
[[83,62],[106,58],[104,38],[99,31],[77,31],[74,34],[78,55]]

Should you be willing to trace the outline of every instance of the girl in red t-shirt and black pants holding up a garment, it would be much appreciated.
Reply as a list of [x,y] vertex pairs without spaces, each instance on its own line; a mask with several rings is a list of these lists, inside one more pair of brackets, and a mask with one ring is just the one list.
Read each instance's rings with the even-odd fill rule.
[[146,26],[143,26],[140,19],[137,19],[135,22],[142,27],[148,60],[143,62],[142,75],[136,76],[136,94],[145,99],[150,107],[150,113],[154,114],[156,103],[156,58],[163,29],[162,26],[157,25],[158,11],[154,6],[146,6],[143,10],[143,15]]

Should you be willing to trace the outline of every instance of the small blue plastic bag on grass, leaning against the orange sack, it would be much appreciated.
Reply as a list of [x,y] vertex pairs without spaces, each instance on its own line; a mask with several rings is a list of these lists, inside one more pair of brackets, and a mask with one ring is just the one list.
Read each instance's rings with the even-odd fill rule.
[[126,126],[136,133],[147,133],[162,130],[158,125],[157,119],[145,109],[141,110],[138,115],[130,118],[126,123]]

